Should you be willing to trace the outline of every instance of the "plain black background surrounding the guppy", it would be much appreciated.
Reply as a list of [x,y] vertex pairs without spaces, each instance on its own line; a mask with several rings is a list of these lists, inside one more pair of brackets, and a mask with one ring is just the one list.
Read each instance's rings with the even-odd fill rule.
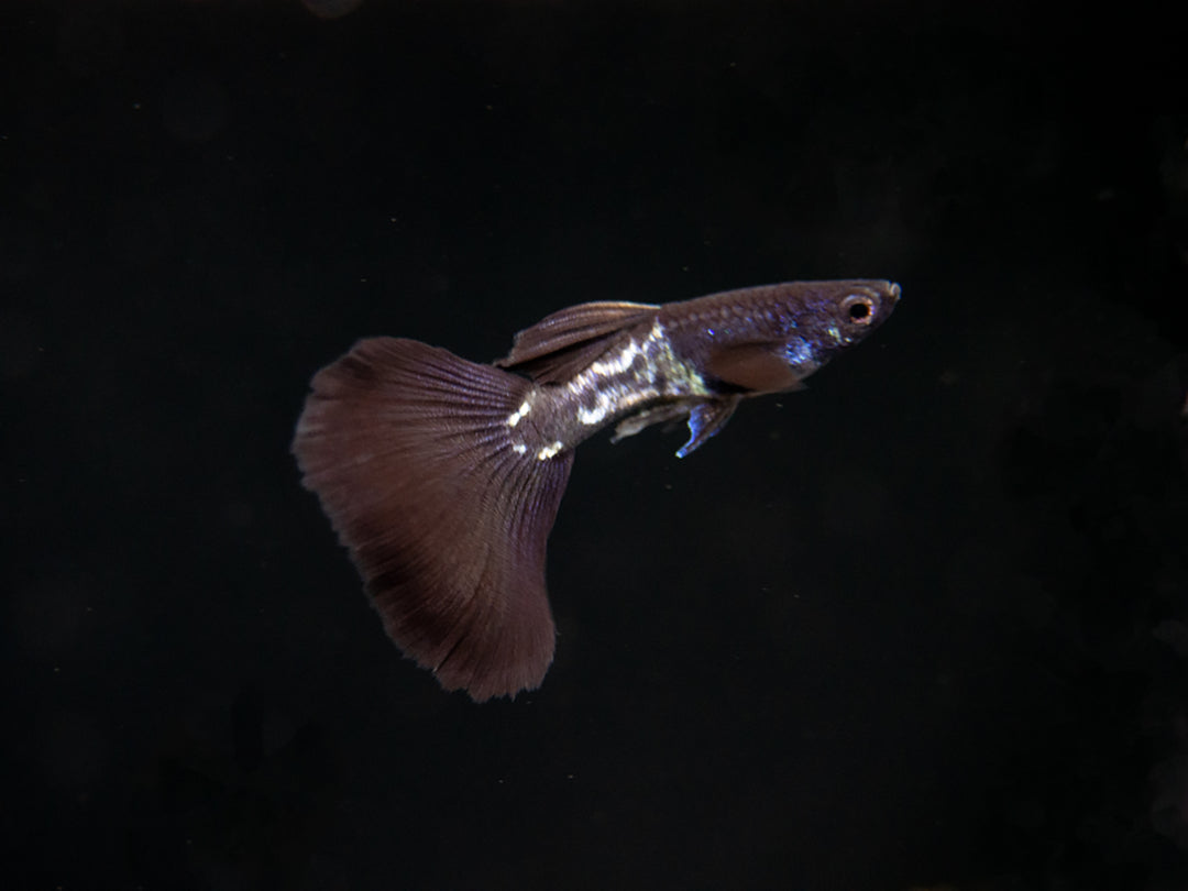
[[[1181,32],[308,1],[0,10],[4,885],[1188,886]],[[807,393],[582,447],[514,702],[287,454],[359,336],[859,276]]]

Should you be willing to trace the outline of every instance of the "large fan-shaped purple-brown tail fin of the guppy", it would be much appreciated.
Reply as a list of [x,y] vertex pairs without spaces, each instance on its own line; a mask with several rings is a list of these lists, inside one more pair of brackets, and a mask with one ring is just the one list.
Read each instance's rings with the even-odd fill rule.
[[475,701],[541,685],[555,630],[545,543],[573,453],[512,449],[531,384],[411,340],[360,341],[314,377],[293,454],[387,633]]

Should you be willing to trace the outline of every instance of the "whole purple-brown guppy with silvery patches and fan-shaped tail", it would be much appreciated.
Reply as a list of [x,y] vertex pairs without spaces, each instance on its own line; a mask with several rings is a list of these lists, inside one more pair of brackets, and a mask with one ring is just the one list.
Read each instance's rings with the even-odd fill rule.
[[320,371],[292,450],[397,646],[475,701],[552,662],[545,543],[574,449],[687,418],[684,457],[742,399],[797,390],[891,314],[899,286],[790,282],[681,303],[583,303],[479,365],[361,340]]

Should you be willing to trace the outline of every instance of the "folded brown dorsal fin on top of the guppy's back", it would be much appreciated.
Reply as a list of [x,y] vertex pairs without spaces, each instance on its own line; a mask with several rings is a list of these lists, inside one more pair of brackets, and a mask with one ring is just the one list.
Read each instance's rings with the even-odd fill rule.
[[568,307],[517,334],[511,353],[494,365],[542,384],[560,384],[598,359],[611,337],[658,310],[652,303],[612,301]]

